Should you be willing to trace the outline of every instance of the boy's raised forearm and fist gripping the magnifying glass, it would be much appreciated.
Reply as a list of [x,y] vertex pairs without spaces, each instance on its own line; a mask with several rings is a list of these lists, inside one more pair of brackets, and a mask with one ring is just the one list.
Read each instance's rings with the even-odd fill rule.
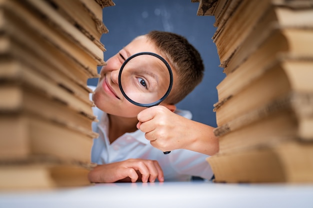
[[141,111],[137,128],[150,144],[165,152],[186,149],[206,155],[218,152],[218,138],[213,127],[179,116],[158,105]]

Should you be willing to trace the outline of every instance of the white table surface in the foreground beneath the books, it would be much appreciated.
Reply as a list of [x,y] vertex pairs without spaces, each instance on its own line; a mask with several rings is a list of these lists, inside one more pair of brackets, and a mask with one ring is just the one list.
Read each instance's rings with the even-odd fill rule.
[[0,192],[0,208],[313,208],[313,184],[115,183]]

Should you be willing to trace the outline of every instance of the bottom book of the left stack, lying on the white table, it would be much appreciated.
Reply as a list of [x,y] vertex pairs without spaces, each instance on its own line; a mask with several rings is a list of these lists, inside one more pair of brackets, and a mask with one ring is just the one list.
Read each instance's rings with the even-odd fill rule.
[[44,156],[0,163],[0,190],[90,186],[88,173],[92,167],[94,164]]

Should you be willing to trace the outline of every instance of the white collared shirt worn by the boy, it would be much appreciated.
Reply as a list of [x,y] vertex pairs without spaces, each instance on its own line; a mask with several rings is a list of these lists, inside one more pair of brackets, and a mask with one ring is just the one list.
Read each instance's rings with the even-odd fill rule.
[[[156,160],[162,168],[164,181],[189,181],[191,176],[209,180],[213,176],[205,160],[209,156],[183,149],[173,150],[164,155],[162,151],[150,145],[140,130],[125,133],[110,144],[107,114],[96,107],[93,107],[93,113],[99,120],[98,123],[92,124],[92,130],[99,134],[99,137],[93,140],[91,151],[93,163],[108,164],[136,158]],[[175,113],[191,119],[189,111],[176,110]]]

